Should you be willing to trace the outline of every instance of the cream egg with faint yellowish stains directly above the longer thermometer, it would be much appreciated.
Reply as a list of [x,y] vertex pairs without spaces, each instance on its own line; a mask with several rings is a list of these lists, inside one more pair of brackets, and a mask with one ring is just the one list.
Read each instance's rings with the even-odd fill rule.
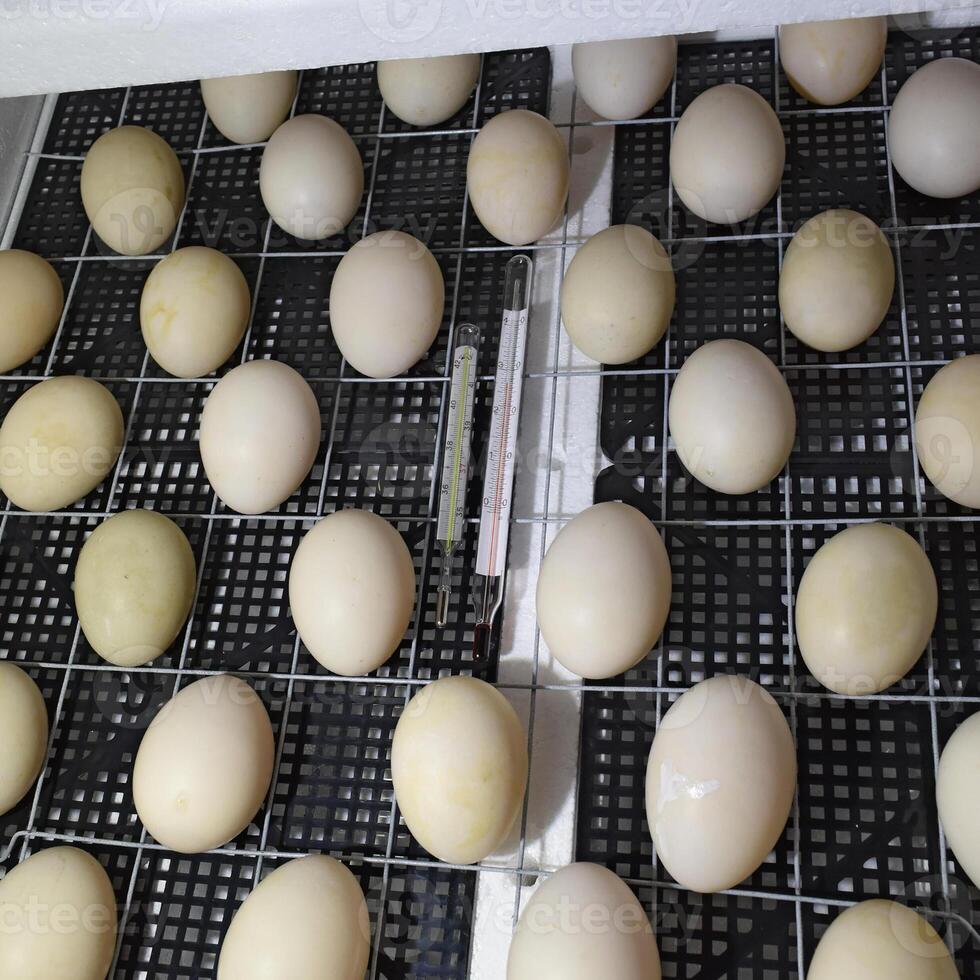
[[544,116],[511,109],[477,134],[466,188],[480,223],[508,245],[529,245],[558,224],[568,196],[568,150]]

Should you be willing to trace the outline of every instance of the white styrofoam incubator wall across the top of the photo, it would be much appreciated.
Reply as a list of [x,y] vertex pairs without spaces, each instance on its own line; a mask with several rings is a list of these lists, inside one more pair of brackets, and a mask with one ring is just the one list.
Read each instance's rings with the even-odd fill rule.
[[0,0],[0,97],[977,0]]

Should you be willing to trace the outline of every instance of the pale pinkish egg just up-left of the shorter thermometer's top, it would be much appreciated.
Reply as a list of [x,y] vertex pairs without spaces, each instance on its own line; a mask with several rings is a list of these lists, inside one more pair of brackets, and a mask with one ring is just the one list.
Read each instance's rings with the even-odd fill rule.
[[407,371],[432,346],[445,306],[442,270],[417,238],[378,231],[340,260],[330,326],[351,367],[369,378]]

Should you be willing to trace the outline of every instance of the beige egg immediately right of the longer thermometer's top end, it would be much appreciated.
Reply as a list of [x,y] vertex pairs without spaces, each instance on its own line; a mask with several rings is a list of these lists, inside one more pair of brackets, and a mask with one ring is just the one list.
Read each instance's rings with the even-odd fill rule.
[[645,228],[613,225],[576,253],[561,287],[561,318],[572,343],[603,364],[650,351],[674,312],[674,270]]

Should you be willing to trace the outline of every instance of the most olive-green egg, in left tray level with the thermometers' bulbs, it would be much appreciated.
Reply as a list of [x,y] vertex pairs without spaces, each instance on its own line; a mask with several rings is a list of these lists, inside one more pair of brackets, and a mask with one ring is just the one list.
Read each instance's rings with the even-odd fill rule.
[[103,521],[82,545],[75,608],[89,646],[120,667],[159,657],[194,602],[197,572],[184,532],[151,510]]

